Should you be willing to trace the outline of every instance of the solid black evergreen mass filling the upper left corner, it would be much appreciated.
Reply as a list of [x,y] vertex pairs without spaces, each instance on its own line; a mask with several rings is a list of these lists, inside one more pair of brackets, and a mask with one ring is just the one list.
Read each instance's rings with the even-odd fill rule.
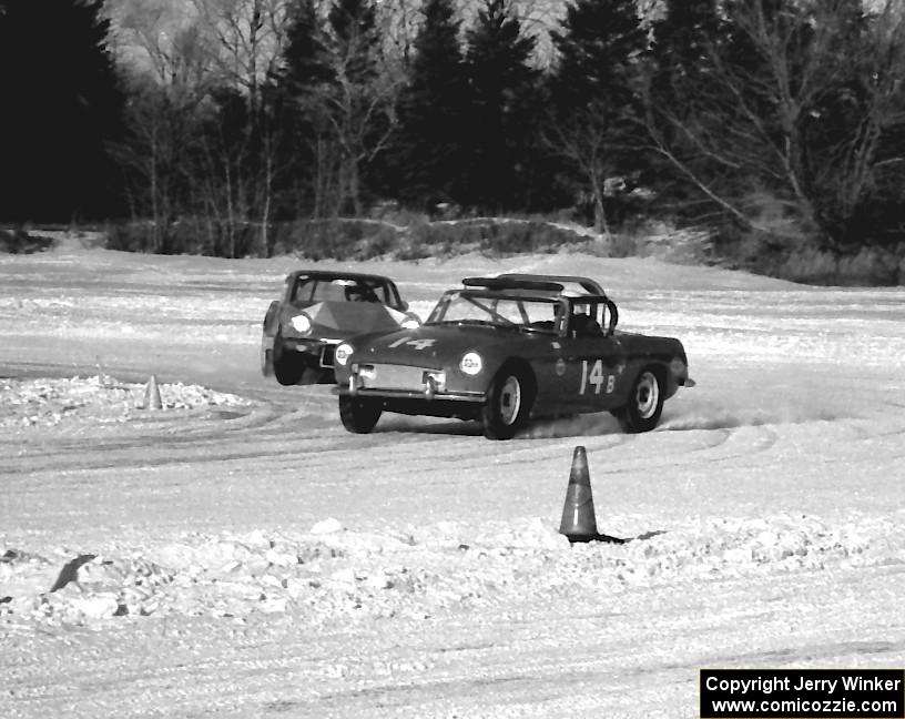
[[0,219],[110,211],[123,98],[101,0],[0,0]]

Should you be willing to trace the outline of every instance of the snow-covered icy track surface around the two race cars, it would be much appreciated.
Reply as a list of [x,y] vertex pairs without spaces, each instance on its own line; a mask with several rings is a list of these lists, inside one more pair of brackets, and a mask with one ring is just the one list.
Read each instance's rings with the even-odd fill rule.
[[[342,265],[423,316],[462,276],[587,274],[622,328],[684,342],[698,386],[657,431],[491,443],[350,435],[328,387],[263,378],[299,266],[0,256],[0,717],[695,717],[701,667],[905,664],[905,290]],[[577,445],[626,544],[557,531]]]

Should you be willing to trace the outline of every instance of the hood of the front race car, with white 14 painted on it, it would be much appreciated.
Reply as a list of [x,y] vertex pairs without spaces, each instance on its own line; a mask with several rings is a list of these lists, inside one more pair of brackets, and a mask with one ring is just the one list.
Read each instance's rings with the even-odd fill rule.
[[353,342],[356,362],[385,362],[440,367],[458,363],[469,351],[487,353],[491,348],[509,354],[517,345],[549,342],[555,337],[521,334],[498,327],[474,325],[426,325],[398,330]]

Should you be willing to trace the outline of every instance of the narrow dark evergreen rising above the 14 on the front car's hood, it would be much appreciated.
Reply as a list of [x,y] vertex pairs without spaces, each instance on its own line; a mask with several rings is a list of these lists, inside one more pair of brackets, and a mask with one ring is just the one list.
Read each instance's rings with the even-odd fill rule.
[[431,202],[460,200],[465,74],[451,0],[427,0],[399,103],[394,146],[399,194]]

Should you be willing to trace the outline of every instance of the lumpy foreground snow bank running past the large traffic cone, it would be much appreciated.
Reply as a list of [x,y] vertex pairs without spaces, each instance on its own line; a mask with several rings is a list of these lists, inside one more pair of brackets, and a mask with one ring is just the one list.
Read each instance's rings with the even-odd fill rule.
[[192,534],[96,556],[7,548],[0,622],[102,627],[171,615],[243,620],[292,612],[323,626],[486,609],[576,589],[618,595],[639,586],[901,565],[901,514],[838,525],[790,514],[689,518],[624,545],[570,546],[556,527],[531,518],[401,534],[346,530],[331,519],[307,534]]

